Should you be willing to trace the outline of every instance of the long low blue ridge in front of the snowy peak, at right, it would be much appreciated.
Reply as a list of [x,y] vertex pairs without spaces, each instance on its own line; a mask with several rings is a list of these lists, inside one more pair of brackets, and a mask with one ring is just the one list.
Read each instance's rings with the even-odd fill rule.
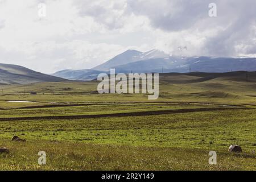
[[255,58],[227,58],[227,57],[183,57],[170,56],[136,61],[118,65],[118,72],[230,72],[256,71]]

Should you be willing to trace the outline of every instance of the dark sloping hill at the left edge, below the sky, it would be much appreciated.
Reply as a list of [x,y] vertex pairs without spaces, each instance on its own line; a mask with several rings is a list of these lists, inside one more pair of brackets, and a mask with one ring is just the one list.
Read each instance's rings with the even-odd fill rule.
[[64,78],[45,75],[13,64],[0,64],[0,85],[29,84],[32,82],[67,81]]

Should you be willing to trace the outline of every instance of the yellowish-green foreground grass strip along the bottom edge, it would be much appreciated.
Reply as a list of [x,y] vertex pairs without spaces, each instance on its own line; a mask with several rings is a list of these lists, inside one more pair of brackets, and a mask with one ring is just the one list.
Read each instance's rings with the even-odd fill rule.
[[[3,141],[1,141],[2,144]],[[207,150],[170,147],[119,146],[79,142],[4,141],[12,151],[1,155],[1,169],[9,170],[239,170],[255,168],[246,154],[218,152],[216,166],[208,164]],[[47,164],[38,165],[39,151]]]

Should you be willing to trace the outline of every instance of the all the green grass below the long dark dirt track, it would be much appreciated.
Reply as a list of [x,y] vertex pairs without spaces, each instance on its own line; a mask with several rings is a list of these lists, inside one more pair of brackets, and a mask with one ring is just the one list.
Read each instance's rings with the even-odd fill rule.
[[[2,161],[2,165],[5,165],[2,169],[25,169],[22,165],[24,159],[27,159],[26,169],[255,169],[256,156],[253,154],[256,144],[255,113],[255,109],[237,109],[236,112],[233,110],[204,111],[163,114],[158,117],[150,115],[47,121],[43,119],[2,121],[0,136],[4,142],[0,146],[10,147],[11,150],[10,155],[5,156],[5,160]],[[10,142],[13,135],[26,138],[28,142]],[[243,154],[229,154],[228,147],[234,143],[242,146]],[[88,149],[83,151],[86,146],[89,146],[89,151]],[[105,168],[102,166],[102,161],[95,157],[96,154],[92,150],[94,147],[100,148],[96,154],[105,158],[102,160],[109,160]],[[125,152],[119,150],[123,147],[126,148]],[[48,160],[53,161],[47,163],[47,167],[39,167],[36,164],[36,150],[47,151]],[[138,156],[141,159],[137,159],[139,163],[127,163],[129,158],[135,158],[134,150],[141,154]],[[223,159],[221,164],[218,164],[220,166],[210,167],[207,163],[207,155],[211,150],[221,155],[218,159],[218,161]],[[64,151],[69,151],[70,156],[65,155]],[[162,155],[166,151],[172,152],[164,155],[163,158]],[[87,156],[88,152],[91,158],[96,158],[94,159],[96,161],[88,159],[90,158]],[[118,152],[121,152],[118,155],[119,158],[125,156],[126,162],[123,159],[114,158]],[[12,155],[22,156],[20,159],[22,161],[13,159]],[[84,157],[82,159],[85,161],[80,164],[80,159],[77,159],[76,155]],[[187,157],[192,160],[185,162]],[[56,162],[60,158],[67,158],[65,160],[67,163]],[[156,162],[156,159],[160,158],[161,160]],[[235,162],[234,158],[236,158]],[[150,159],[155,159],[154,163]],[[163,160],[170,160],[170,166],[167,165],[170,162],[160,165]],[[174,165],[175,160],[179,163]],[[9,166],[10,161],[14,167]],[[69,166],[72,161],[74,163]],[[89,162],[93,162],[93,166],[88,166]]]

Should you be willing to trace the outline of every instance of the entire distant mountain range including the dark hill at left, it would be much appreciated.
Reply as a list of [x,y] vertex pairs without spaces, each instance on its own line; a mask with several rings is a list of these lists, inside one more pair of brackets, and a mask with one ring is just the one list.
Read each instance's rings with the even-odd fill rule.
[[19,65],[0,64],[0,85],[94,80],[100,73],[109,73],[110,68],[114,68],[115,73],[254,72],[256,58],[185,57],[170,56],[155,49],[147,52],[127,50],[93,69],[66,69],[52,75],[35,72]]

